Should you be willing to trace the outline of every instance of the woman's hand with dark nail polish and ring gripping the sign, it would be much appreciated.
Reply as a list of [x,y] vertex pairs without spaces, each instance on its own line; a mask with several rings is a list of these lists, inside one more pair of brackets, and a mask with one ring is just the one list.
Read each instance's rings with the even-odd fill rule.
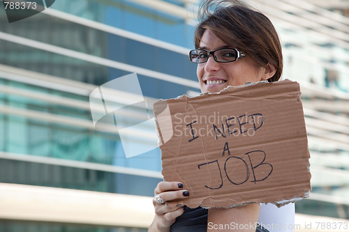
[[185,199],[189,196],[187,190],[183,190],[183,184],[179,182],[161,181],[154,190],[154,195],[158,195],[164,203],[156,203],[153,200],[155,217],[148,231],[170,231],[170,226],[177,217],[183,214],[181,206],[169,206],[166,201]]

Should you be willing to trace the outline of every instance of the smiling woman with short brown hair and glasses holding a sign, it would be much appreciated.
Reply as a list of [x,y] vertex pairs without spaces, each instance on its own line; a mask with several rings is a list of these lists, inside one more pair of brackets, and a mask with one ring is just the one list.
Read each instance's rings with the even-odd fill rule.
[[[245,82],[279,80],[283,69],[281,44],[272,22],[265,15],[233,0],[207,0],[199,12],[201,22],[195,30],[196,49],[190,52],[189,58],[198,63],[202,93],[216,93]],[[258,222],[259,204],[209,210],[172,208],[165,202],[190,197],[190,192],[180,182],[163,181],[154,193],[156,215],[149,231],[214,231],[219,224],[254,225]],[[291,217],[292,212],[291,208]],[[274,217],[273,213],[268,217]],[[256,231],[256,228],[251,226],[244,231]],[[267,230],[258,226],[257,231]]]

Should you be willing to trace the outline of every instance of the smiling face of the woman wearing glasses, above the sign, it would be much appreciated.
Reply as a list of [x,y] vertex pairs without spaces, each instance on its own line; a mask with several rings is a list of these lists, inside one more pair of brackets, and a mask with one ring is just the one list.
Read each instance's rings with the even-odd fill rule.
[[[230,46],[209,30],[202,35],[200,49],[214,51],[223,47]],[[206,63],[198,63],[196,72],[202,93],[216,93],[227,86],[239,86],[245,82],[260,82],[269,78],[267,69],[258,68],[248,57],[240,57],[237,61],[230,63],[218,63],[213,56],[209,56]]]

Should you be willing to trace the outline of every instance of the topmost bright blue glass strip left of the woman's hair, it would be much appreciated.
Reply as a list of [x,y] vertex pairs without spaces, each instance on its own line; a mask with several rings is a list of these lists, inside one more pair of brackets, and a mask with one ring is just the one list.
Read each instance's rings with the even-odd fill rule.
[[[183,5],[180,1],[170,3]],[[184,20],[129,1],[60,0],[51,8],[183,47],[190,47],[186,40],[193,37],[185,29],[192,26]]]

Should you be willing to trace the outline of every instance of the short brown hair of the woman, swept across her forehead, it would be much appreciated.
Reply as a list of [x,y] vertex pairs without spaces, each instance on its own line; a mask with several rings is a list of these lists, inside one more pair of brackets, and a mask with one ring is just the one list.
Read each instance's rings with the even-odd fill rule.
[[200,6],[199,20],[195,29],[195,48],[200,46],[203,33],[209,29],[227,45],[251,57],[256,65],[265,67],[268,62],[275,65],[276,73],[269,82],[280,79],[283,71],[281,43],[265,15],[237,0],[206,0]]

